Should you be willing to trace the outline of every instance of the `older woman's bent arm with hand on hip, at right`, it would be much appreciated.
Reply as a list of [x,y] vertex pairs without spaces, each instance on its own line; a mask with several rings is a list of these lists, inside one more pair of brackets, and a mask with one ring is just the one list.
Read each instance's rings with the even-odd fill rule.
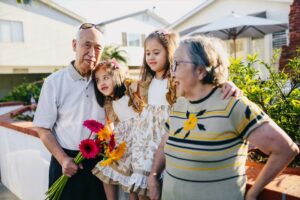
[[246,200],[252,200],[256,199],[263,188],[293,160],[299,153],[299,148],[274,122],[265,123],[253,130],[248,140],[270,155],[254,185],[246,194]]

